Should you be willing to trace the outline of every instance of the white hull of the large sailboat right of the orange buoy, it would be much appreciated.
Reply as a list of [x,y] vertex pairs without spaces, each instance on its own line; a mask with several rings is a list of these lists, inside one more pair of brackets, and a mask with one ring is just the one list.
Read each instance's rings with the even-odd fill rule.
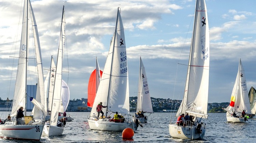
[[196,131],[195,126],[177,126],[169,124],[169,133],[172,138],[201,140],[205,135],[205,128],[201,128],[202,132]]

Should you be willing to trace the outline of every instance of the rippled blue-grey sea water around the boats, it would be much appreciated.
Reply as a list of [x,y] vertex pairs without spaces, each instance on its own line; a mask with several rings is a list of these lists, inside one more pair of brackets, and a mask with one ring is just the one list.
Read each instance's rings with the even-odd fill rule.
[[[193,142],[193,143],[219,143],[219,142],[255,142],[256,120],[249,120],[245,124],[227,123],[225,113],[209,113],[206,123],[206,133],[201,141],[172,139],[169,134],[169,122],[172,113],[153,113],[148,117],[148,123],[143,124],[134,133],[132,141],[122,140],[122,132],[97,131],[90,130],[87,116],[89,112],[68,112],[74,119],[73,122],[67,122],[62,136],[42,138],[42,143],[117,143],[117,142]],[[0,112],[0,117],[4,114]],[[0,139],[1,143],[28,142],[18,140]],[[32,141],[31,141],[32,142]],[[34,142],[33,142],[34,143]]]

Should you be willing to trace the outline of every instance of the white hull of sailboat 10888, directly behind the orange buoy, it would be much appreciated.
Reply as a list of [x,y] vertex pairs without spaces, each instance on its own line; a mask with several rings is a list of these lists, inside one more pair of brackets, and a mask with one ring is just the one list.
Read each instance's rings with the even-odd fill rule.
[[90,129],[92,130],[105,130],[105,131],[123,131],[126,128],[131,128],[133,131],[137,130],[136,123],[134,122],[124,122],[124,123],[115,123],[110,122],[108,119],[99,119],[92,120],[88,119]]

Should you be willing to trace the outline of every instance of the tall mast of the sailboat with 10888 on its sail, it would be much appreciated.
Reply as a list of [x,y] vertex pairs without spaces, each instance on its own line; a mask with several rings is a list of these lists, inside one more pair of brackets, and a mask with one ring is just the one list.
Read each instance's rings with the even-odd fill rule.
[[111,68],[110,68],[110,78],[109,78],[109,91],[108,91],[108,97],[107,97],[107,100],[106,100],[106,117],[108,117],[108,100],[109,100],[109,94],[110,94],[110,83],[111,83],[111,77],[112,77],[112,68],[113,68],[113,55],[114,55],[114,49],[115,49],[115,42],[116,42],[116,32],[117,32],[117,21],[118,21],[118,10],[119,10],[119,7],[117,8],[117,15],[116,15],[116,25],[115,25],[115,34],[113,35],[114,36],[114,43],[113,43],[113,51],[112,51],[112,61],[111,61]]

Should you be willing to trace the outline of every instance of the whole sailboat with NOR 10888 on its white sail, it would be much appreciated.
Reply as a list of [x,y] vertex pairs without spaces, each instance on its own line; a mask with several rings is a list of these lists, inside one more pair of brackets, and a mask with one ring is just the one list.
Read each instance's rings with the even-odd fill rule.
[[[103,118],[98,119],[97,105],[102,102]],[[93,108],[88,123],[90,129],[106,131],[123,131],[125,128],[137,130],[138,126],[130,118],[125,122],[112,122],[115,112],[129,115],[129,84],[128,65],[125,46],[125,35],[120,9],[117,8],[116,25],[113,39],[110,43],[108,57],[102,73],[101,81],[96,93]],[[109,114],[110,113],[110,114]]]

